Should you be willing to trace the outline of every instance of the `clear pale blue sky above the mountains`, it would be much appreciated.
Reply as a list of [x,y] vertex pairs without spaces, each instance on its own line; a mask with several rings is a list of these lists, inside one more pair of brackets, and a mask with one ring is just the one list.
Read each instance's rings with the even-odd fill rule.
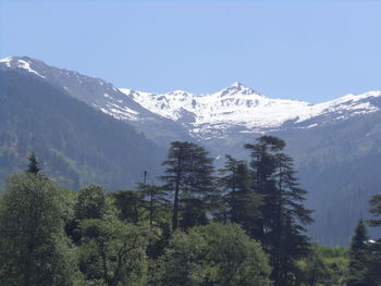
[[241,82],[317,103],[381,89],[380,14],[366,0],[0,0],[0,58],[142,91]]

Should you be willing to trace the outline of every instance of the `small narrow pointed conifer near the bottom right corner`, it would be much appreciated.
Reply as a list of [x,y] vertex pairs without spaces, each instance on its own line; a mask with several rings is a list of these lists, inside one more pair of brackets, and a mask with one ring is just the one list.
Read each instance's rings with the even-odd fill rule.
[[369,256],[367,228],[362,220],[358,221],[351,241],[347,286],[366,286],[365,275]]

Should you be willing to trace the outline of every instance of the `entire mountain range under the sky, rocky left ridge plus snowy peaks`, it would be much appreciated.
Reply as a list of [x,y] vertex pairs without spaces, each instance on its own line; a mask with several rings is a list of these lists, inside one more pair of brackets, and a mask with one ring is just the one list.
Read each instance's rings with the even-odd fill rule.
[[130,122],[147,137],[162,144],[190,137],[213,140],[238,134],[312,128],[381,108],[381,91],[347,95],[311,104],[268,98],[241,83],[209,95],[183,90],[150,94],[118,89],[102,79],[49,66],[27,57],[2,59],[0,69],[21,70],[48,80],[89,105]]

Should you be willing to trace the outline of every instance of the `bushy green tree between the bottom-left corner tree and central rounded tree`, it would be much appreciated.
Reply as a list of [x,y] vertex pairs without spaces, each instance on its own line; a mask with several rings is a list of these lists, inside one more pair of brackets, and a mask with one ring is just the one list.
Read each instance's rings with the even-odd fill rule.
[[79,269],[85,279],[108,286],[146,285],[145,228],[119,220],[85,220],[79,225]]

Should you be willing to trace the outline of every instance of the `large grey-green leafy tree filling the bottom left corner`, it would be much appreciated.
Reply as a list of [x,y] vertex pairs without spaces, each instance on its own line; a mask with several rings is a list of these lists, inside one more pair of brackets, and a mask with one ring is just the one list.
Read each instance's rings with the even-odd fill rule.
[[8,178],[0,201],[0,285],[72,285],[64,192],[40,175]]

